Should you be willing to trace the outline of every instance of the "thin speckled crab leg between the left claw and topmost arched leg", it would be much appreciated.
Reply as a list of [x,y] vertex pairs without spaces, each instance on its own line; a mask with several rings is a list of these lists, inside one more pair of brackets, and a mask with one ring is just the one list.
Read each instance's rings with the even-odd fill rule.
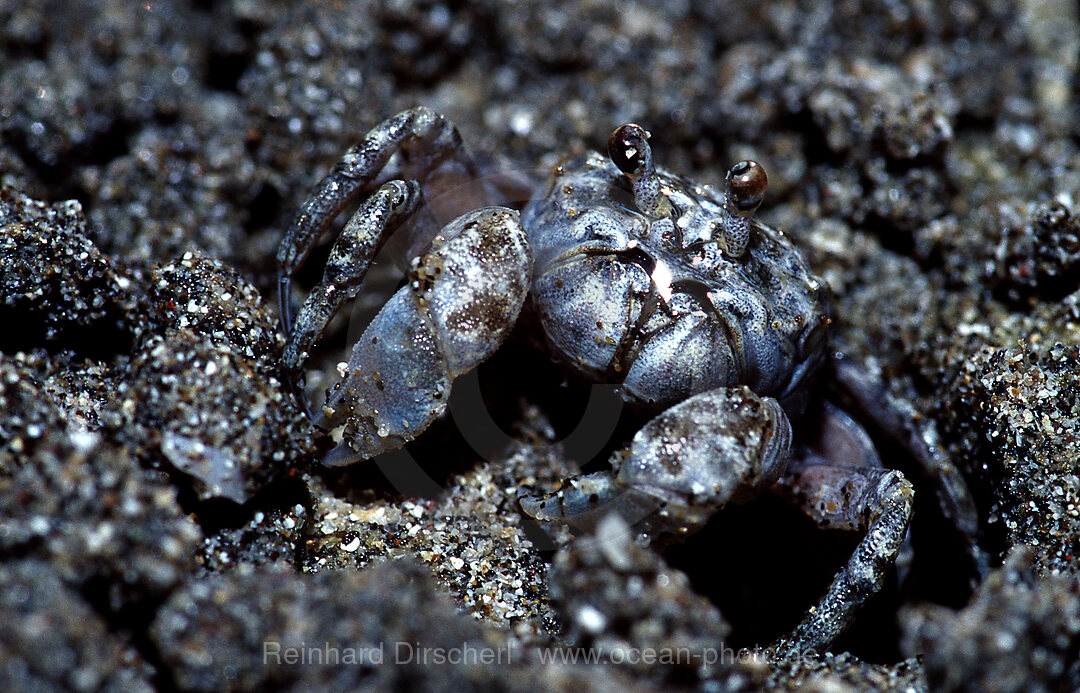
[[420,185],[414,180],[383,184],[341,230],[322,281],[311,289],[288,334],[282,365],[296,378],[308,351],[341,304],[356,297],[379,246],[419,206]]

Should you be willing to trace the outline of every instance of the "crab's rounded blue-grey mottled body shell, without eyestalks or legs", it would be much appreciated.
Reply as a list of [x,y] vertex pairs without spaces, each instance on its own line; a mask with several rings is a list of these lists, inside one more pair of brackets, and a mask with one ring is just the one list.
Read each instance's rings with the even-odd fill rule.
[[625,176],[596,152],[556,166],[523,210],[532,301],[552,348],[650,408],[745,384],[798,416],[825,357],[824,282],[786,235],[753,218],[745,253],[728,257],[725,191],[657,174],[670,216],[639,212]]

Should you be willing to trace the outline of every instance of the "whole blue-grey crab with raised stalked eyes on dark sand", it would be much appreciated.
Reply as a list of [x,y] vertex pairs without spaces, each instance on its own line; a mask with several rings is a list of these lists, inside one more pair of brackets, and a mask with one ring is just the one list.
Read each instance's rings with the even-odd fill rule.
[[[864,533],[821,601],[777,643],[781,653],[825,648],[894,563],[913,486],[882,466],[839,408],[808,411],[811,382],[831,359],[832,304],[791,239],[754,216],[764,167],[739,162],[723,186],[700,185],[658,167],[648,136],[636,124],[619,126],[607,157],[588,152],[555,166],[518,213],[483,206],[498,192],[448,119],[421,107],[383,121],[318,185],[281,243],[284,373],[302,381],[330,317],[357,295],[381,245],[407,228],[405,286],[312,416],[324,432],[341,429],[323,463],[366,460],[420,435],[446,409],[453,381],[505,340],[528,297],[557,358],[659,413],[612,456],[610,470],[546,494],[523,490],[522,509],[586,531],[615,512],[651,535],[673,536],[729,502],[778,491],[822,527]],[[462,181],[480,182],[464,189]],[[440,229],[432,206],[455,188],[456,202],[476,207]],[[292,277],[361,198],[294,320]],[[970,499],[932,440],[905,427],[880,389],[838,364],[831,369],[863,408],[947,477],[951,516],[970,526]],[[793,443],[792,421],[800,419],[814,422],[810,437],[823,445]]]

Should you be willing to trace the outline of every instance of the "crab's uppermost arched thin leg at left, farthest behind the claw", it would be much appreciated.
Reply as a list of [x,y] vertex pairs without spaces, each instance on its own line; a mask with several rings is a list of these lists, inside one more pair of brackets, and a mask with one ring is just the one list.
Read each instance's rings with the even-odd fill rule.
[[[323,231],[383,172],[394,153],[402,158],[394,177],[428,182],[440,173],[454,178],[474,178],[475,166],[457,127],[430,108],[411,108],[382,121],[352,146],[296,215],[278,248],[282,327],[292,329],[288,315],[289,282],[303,264]],[[447,171],[442,171],[442,169]]]

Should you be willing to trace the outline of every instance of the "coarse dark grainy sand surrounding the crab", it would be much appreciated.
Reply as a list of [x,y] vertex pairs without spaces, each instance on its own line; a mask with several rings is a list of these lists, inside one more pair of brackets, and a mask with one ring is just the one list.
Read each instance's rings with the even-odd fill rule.
[[[665,6],[0,3],[0,688],[1080,688],[1075,3]],[[771,660],[856,538],[775,499],[662,554],[545,533],[517,489],[588,461],[558,440],[589,388],[527,335],[461,386],[497,444],[448,417],[320,467],[276,245],[417,105],[525,181],[627,121],[703,181],[762,162],[758,214],[832,287],[836,350],[959,470],[985,574],[937,475],[875,431],[916,487],[912,556],[832,652]],[[312,399],[399,276],[333,326]],[[602,662],[551,661],[581,652]]]

